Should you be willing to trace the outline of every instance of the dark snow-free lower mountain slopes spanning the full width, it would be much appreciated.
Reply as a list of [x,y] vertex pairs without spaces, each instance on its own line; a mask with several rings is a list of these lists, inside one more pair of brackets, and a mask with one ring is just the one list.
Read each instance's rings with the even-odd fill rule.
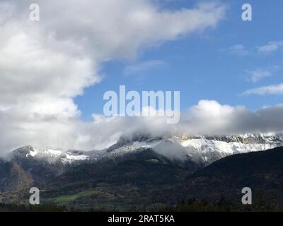
[[[168,147],[174,148],[171,144]],[[53,169],[59,172],[63,167],[62,172],[38,184],[41,202],[76,206],[81,210],[152,210],[161,203],[173,205],[192,198],[215,202],[224,197],[237,206],[243,196],[241,189],[248,186],[254,193],[263,191],[270,200],[283,203],[283,148],[231,155],[203,167],[190,157],[176,160],[153,148],[127,150],[127,145],[120,143],[106,150],[108,155],[96,162],[68,166],[60,162],[59,168]],[[121,147],[127,151],[121,153]],[[41,170],[52,172],[50,165],[44,168],[33,157],[24,158],[28,162],[20,159],[1,160],[0,179],[4,189],[12,187],[13,191],[19,191],[24,186],[29,189],[34,179],[45,172]],[[34,169],[40,172],[35,174]],[[13,194],[13,200],[26,202],[28,195],[28,191],[21,191]],[[9,199],[5,194],[1,196],[2,200]]]

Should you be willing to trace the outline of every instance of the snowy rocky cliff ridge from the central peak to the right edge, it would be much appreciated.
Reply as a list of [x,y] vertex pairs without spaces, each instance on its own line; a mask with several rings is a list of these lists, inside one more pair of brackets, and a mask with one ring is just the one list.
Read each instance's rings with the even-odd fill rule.
[[283,146],[283,135],[276,133],[238,136],[151,136],[122,137],[109,156],[125,155],[151,148],[171,160],[190,160],[208,165],[221,157]]

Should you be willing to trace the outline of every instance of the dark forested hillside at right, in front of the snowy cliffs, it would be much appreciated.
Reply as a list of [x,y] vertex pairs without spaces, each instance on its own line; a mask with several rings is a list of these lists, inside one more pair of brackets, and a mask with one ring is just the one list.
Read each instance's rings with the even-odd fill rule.
[[224,157],[190,175],[174,189],[182,194],[176,195],[179,201],[190,198],[216,201],[225,197],[239,204],[244,187],[262,191],[283,203],[283,148]]

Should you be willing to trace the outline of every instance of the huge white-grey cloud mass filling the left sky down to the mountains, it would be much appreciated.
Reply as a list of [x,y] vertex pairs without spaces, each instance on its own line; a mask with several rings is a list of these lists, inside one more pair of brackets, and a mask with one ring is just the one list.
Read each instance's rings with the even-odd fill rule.
[[[39,22],[28,20],[31,3],[40,5]],[[218,4],[169,11],[149,0],[1,0],[1,152],[27,144],[93,149],[114,141],[133,119],[85,123],[74,103],[101,80],[100,63],[215,28],[224,14]]]

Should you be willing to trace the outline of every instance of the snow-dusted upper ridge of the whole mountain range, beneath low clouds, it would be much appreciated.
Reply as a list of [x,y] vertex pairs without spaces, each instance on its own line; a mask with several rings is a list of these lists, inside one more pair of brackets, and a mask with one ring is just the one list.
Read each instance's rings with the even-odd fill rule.
[[208,165],[221,157],[237,153],[267,150],[283,146],[283,134],[244,134],[238,136],[122,136],[110,148],[100,151],[57,150],[27,146],[19,148],[13,155],[32,157],[47,162],[62,162],[64,165],[96,162],[103,157],[122,157],[151,148],[171,160],[190,159]]

